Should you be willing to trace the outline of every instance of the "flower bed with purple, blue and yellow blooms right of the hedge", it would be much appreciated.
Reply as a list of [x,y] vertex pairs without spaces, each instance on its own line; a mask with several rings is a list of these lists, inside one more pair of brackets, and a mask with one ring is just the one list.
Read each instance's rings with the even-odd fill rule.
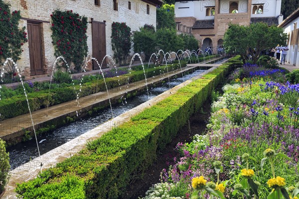
[[[240,77],[246,70],[255,74]],[[162,171],[169,189],[154,186],[145,199],[298,199],[299,85],[284,73],[237,69],[212,104],[207,134],[178,143],[181,158]]]

